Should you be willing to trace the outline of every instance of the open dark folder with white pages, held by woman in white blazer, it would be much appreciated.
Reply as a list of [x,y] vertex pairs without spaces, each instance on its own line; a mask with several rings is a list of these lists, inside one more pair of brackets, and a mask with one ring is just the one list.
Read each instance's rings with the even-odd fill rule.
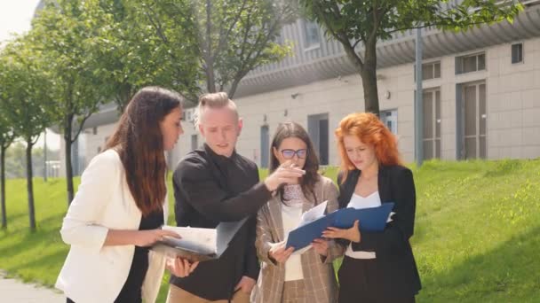
[[163,226],[176,232],[181,238],[165,237],[152,246],[152,250],[170,257],[182,257],[190,261],[216,260],[223,253],[246,219],[221,222],[215,229]]

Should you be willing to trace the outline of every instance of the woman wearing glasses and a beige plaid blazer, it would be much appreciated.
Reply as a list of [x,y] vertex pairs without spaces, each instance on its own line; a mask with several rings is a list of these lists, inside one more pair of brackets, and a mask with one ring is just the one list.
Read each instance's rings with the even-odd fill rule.
[[335,302],[336,277],[332,260],[343,253],[339,245],[322,238],[294,254],[285,249],[285,236],[298,226],[302,213],[328,200],[327,212],[338,208],[338,189],[318,174],[319,159],[306,130],[294,122],[281,124],[271,145],[270,172],[300,167],[306,175],[285,184],[258,212],[257,252],[261,264],[252,301]]

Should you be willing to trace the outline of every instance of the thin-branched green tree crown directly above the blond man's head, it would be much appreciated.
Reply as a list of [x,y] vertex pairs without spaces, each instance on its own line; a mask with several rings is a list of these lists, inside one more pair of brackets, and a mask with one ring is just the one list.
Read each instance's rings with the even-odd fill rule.
[[290,45],[275,41],[295,18],[296,7],[284,0],[144,0],[138,10],[169,47],[172,60],[183,57],[178,51],[196,52],[201,87],[234,97],[251,70],[290,53]]

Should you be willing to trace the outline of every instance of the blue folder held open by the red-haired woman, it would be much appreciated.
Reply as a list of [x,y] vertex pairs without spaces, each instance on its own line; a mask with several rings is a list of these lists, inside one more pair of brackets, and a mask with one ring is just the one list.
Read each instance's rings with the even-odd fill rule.
[[294,247],[295,251],[310,245],[315,238],[322,237],[322,231],[329,227],[350,229],[354,221],[360,221],[361,231],[382,231],[393,209],[393,202],[383,203],[381,206],[356,209],[353,207],[341,208],[322,216],[314,221],[299,226],[289,233],[286,248]]

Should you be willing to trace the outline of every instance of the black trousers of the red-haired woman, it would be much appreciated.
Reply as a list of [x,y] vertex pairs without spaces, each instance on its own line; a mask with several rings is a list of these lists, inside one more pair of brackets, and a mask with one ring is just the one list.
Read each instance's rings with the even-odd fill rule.
[[338,303],[414,303],[415,296],[395,297],[383,287],[384,280],[376,259],[345,256],[338,271]]

